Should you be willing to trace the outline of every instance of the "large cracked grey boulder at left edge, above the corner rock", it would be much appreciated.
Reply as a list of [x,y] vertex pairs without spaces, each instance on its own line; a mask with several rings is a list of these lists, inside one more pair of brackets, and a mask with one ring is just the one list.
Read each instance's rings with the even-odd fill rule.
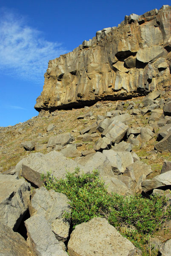
[[24,179],[0,174],[0,222],[14,231],[28,210],[30,189],[31,185]]

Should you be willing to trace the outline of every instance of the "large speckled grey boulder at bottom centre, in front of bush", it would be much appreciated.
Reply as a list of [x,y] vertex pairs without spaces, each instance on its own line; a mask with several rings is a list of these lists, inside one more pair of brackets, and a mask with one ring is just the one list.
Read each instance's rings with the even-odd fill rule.
[[136,247],[107,220],[94,218],[75,227],[68,242],[68,253],[71,256],[128,256],[130,253],[135,256]]

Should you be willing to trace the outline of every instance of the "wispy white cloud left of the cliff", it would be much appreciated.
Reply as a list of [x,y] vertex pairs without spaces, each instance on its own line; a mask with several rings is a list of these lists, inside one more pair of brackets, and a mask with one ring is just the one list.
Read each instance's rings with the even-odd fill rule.
[[66,53],[57,42],[26,24],[26,19],[0,10],[0,70],[22,79],[42,81],[48,61]]

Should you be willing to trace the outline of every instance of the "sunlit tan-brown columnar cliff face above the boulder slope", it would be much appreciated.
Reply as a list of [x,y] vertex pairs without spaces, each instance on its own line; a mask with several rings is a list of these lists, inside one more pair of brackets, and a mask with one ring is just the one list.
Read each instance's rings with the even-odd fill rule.
[[170,85],[171,6],[125,16],[118,27],[49,61],[37,111],[147,94]]

